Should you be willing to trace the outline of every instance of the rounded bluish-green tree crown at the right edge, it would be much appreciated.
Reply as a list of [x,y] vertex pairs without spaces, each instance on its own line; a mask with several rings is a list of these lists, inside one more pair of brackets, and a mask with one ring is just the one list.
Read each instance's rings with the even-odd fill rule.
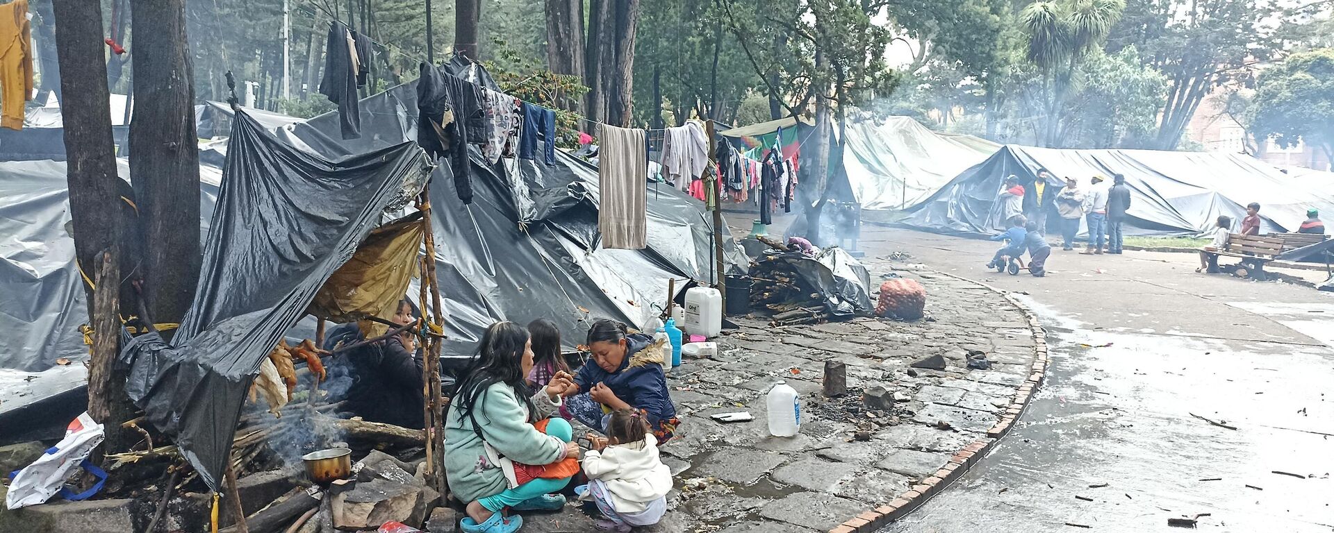
[[1334,48],[1294,53],[1261,73],[1251,128],[1279,147],[1305,141],[1334,155]]

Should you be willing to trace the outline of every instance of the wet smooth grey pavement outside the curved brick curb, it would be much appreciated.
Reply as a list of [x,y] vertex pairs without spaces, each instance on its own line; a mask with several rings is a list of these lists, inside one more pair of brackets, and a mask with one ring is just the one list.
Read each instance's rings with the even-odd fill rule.
[[882,532],[1334,530],[1334,294],[1137,252],[1057,249],[1034,278],[983,270],[986,241],[862,243],[1021,294],[1051,350],[1015,429]]

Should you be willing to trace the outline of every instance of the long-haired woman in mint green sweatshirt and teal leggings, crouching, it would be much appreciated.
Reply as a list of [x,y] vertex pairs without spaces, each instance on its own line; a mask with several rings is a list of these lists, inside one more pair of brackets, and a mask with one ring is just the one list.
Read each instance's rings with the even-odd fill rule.
[[539,432],[532,422],[555,413],[560,394],[575,385],[554,378],[528,394],[524,376],[532,369],[528,330],[496,322],[482,336],[478,360],[459,385],[444,421],[444,474],[455,497],[468,504],[467,533],[512,533],[523,525],[503,510],[560,509],[564,497],[551,494],[570,478],[534,478],[518,484],[514,464],[550,465],[579,457],[574,430],[563,418]]

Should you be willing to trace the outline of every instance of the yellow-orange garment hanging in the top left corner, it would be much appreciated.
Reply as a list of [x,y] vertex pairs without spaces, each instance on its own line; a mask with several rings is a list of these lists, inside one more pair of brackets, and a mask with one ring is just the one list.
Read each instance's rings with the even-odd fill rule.
[[[32,27],[28,0],[0,5],[0,127],[23,129],[24,101],[32,99]],[[100,52],[99,52],[100,53]]]

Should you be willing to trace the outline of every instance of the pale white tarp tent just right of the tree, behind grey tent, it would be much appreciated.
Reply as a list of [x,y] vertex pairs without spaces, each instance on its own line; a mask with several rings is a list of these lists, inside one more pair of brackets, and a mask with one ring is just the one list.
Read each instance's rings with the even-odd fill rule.
[[971,135],[932,132],[904,116],[850,120],[843,135],[843,169],[862,209],[915,205],[1000,148]]

